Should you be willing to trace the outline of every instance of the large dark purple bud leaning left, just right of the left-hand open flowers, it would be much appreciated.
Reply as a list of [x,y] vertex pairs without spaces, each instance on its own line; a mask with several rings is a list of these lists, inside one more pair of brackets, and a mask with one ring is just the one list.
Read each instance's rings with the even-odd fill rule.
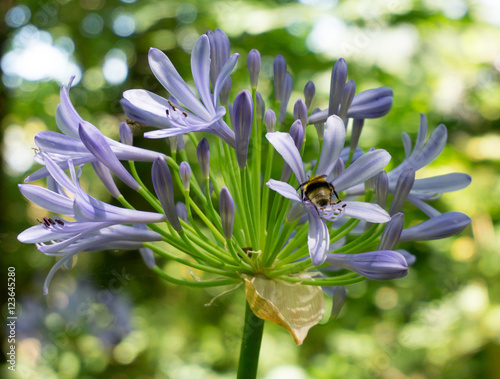
[[175,230],[180,231],[182,227],[177,218],[177,211],[175,209],[174,184],[165,159],[158,157],[154,160],[151,176],[153,178],[153,187],[156,196],[158,200],[160,200],[160,204],[165,211],[168,222]]

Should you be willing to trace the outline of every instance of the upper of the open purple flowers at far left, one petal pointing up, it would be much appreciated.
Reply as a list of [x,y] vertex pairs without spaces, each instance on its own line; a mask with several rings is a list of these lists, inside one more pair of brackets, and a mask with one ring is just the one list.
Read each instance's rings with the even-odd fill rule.
[[[98,162],[98,158],[82,142],[80,129],[84,133],[98,136],[103,148],[111,150],[117,160],[152,162],[156,157],[165,157],[164,154],[129,146],[126,143],[120,143],[105,137],[94,125],[83,120],[76,112],[69,98],[69,88],[72,81],[73,78],[71,78],[68,86],[61,86],[61,103],[56,110],[56,123],[64,134],[44,130],[35,136],[35,143],[39,150],[35,155],[35,160],[38,163],[45,165],[45,158],[49,157],[59,167],[67,169],[69,159],[72,159],[75,165]],[[42,167],[29,175],[25,182],[44,178],[47,175],[47,168]]]

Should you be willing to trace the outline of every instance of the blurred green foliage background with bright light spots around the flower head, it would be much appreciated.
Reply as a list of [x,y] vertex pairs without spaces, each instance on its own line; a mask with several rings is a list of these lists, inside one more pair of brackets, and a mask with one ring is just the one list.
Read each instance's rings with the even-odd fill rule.
[[[438,205],[467,213],[472,228],[442,241],[402,245],[417,256],[408,277],[351,286],[339,318],[313,328],[301,347],[268,324],[260,376],[500,378],[498,2],[4,0],[0,8],[1,277],[6,283],[7,267],[15,267],[19,316],[17,371],[4,365],[2,377],[235,376],[242,288],[207,306],[221,290],[166,284],[139,254],[113,251],[80,254],[76,267],[59,272],[44,296],[42,283],[54,260],[16,239],[44,216],[17,184],[35,169],[34,135],[57,130],[60,84],[76,75],[71,97],[77,110],[117,138],[121,93],[162,91],[147,64],[149,47],[164,50],[191,78],[193,43],[218,27],[230,37],[232,52],[241,54],[232,75],[235,90],[248,87],[244,62],[256,48],[263,57],[264,98],[272,92],[272,61],[283,54],[294,77],[290,103],[311,79],[313,107],[324,108],[331,68],[344,57],[357,92],[389,86],[395,94],[389,115],[365,124],[362,147],[385,148],[401,161],[400,134],[414,138],[422,112],[430,130],[446,124],[449,145],[417,177],[455,171],[473,177],[469,188]],[[137,145],[144,145],[141,133],[136,130]],[[153,142],[148,146],[168,150],[164,141]],[[110,201],[95,181],[85,185]],[[417,222],[423,216],[411,217]],[[1,346],[5,353],[5,339]]]

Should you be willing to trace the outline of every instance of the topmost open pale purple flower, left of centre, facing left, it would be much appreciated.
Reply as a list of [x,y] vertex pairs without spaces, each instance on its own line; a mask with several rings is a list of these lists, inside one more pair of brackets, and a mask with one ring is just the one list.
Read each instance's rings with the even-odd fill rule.
[[235,146],[234,133],[222,120],[226,110],[219,106],[218,102],[222,87],[236,64],[238,54],[232,55],[220,68],[213,93],[210,89],[210,55],[209,37],[202,35],[196,41],[191,54],[191,70],[200,101],[181,78],[170,59],[160,50],[150,49],[151,70],[175,101],[146,90],[129,90],[123,93],[121,104],[128,117],[161,128],[145,133],[145,137],[166,138],[189,132],[207,132]]

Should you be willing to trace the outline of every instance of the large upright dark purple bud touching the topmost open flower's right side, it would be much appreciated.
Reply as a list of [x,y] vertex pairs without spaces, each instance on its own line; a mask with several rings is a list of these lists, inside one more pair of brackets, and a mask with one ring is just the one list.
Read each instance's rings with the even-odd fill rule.
[[236,138],[236,158],[241,169],[245,168],[248,144],[253,125],[252,95],[248,90],[241,91],[233,103],[234,134]]

